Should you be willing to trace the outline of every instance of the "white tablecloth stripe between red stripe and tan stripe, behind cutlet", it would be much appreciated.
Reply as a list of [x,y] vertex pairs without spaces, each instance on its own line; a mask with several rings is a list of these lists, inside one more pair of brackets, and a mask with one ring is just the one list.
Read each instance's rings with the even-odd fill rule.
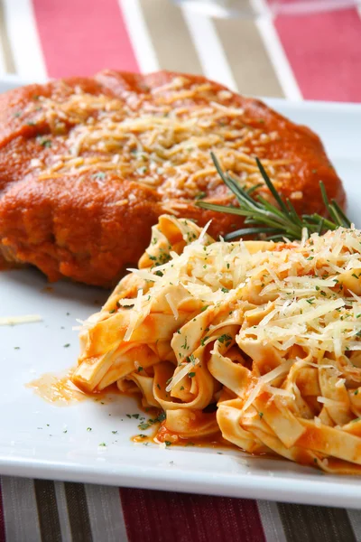
[[139,0],[118,0],[120,9],[125,16],[126,27],[129,31],[134,53],[143,73],[159,70],[159,63],[151,35],[145,23]]

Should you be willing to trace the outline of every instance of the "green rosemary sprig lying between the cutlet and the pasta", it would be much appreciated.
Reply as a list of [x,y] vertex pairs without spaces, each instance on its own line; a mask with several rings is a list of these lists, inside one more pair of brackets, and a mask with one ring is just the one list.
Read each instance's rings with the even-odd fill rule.
[[245,217],[247,227],[227,233],[225,236],[227,241],[245,235],[255,235],[274,241],[283,238],[294,240],[302,238],[303,229],[307,229],[308,235],[310,235],[314,232],[322,234],[329,229],[338,229],[340,227],[350,228],[351,222],[347,219],[343,210],[340,209],[338,202],[335,200],[329,201],[323,182],[319,182],[319,188],[329,218],[321,217],[318,213],[299,215],[289,199],[282,200],[258,158],[255,159],[256,164],[268,190],[272,193],[278,205],[277,207],[260,195],[256,196],[255,199],[251,197],[251,194],[262,185],[258,184],[249,190],[242,188],[230,174],[222,171],[216,155],[211,153],[211,157],[222,181],[235,194],[239,207],[217,205],[208,201],[197,201],[196,205],[203,209],[217,210]]

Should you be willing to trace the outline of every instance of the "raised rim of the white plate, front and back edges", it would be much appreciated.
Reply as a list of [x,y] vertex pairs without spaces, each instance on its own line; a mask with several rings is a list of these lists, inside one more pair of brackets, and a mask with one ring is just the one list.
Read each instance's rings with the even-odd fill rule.
[[[42,81],[43,82],[43,81]],[[32,84],[15,75],[0,75],[1,84],[23,86]],[[361,103],[329,102],[316,100],[289,100],[286,98],[261,97],[273,108],[290,106],[301,110],[329,113],[361,114]],[[188,493],[211,494],[218,496],[308,503],[319,506],[360,508],[361,484],[347,483],[342,475],[324,474],[310,479],[297,478],[292,472],[280,475],[274,472],[210,472],[208,470],[187,471],[183,466],[158,466],[146,463],[146,468],[137,469],[129,458],[125,463],[80,463],[69,460],[33,459],[22,453],[14,457],[5,453],[0,444],[0,473],[2,475],[23,476],[57,481],[79,481],[111,486],[143,488],[149,490],[180,491]],[[181,453],[178,449],[175,453]],[[176,463],[176,462],[175,462]],[[307,474],[305,470],[304,474]],[[345,483],[341,483],[342,480]]]

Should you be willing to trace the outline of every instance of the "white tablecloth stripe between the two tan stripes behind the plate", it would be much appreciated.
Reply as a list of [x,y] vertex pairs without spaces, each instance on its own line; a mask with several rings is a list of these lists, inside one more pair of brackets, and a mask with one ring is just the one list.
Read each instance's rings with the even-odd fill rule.
[[194,47],[198,52],[203,74],[208,79],[217,81],[236,92],[236,81],[212,20],[207,15],[193,11],[187,5],[182,6],[181,9]]

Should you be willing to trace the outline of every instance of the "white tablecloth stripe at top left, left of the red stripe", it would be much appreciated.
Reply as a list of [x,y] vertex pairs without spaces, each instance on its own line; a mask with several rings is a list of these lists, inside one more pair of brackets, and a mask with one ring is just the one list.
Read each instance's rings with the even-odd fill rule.
[[45,63],[36,30],[32,0],[3,0],[3,2],[16,73],[24,79],[45,81]]

